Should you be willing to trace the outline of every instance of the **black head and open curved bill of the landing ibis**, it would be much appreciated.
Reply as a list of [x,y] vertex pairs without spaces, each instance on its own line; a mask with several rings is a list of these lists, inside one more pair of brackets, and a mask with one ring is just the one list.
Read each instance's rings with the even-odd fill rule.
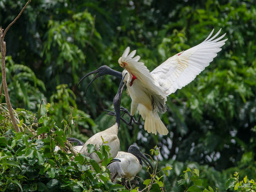
[[[103,65],[101,67],[99,67],[98,69],[87,73],[85,76],[82,77],[82,79],[80,79],[80,81],[78,82],[78,85],[81,83],[81,81],[86,78],[87,76],[94,74],[94,73],[98,73],[91,81],[90,83],[87,85],[86,89],[85,89],[85,93],[87,92],[88,87],[90,86],[90,84],[92,84],[93,81],[95,81],[98,77],[103,76],[103,75],[112,75],[112,76],[116,76],[120,79],[122,79],[122,73],[118,72],[116,70],[111,69],[110,67],[108,67],[107,65]],[[84,94],[85,94],[84,93]]]

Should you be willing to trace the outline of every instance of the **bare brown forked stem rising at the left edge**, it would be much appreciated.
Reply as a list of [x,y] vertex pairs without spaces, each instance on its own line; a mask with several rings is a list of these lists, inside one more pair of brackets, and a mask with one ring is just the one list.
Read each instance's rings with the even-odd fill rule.
[[4,41],[4,37],[6,35],[6,32],[10,29],[10,27],[16,22],[16,20],[20,17],[22,12],[26,9],[26,7],[30,3],[30,1],[31,0],[28,0],[26,5],[21,9],[19,15],[12,21],[12,23],[10,23],[7,26],[7,28],[5,30],[0,26],[0,46],[1,46],[1,59],[2,59],[2,79],[3,79],[2,86],[3,86],[5,98],[6,98],[6,104],[7,104],[7,108],[9,111],[9,115],[12,120],[12,125],[14,126],[14,129],[16,132],[20,132],[20,128],[18,127],[17,122],[15,120],[15,116],[13,114],[13,109],[12,109],[12,105],[10,102],[10,97],[9,97],[8,87],[7,87],[7,82],[6,82],[6,66],[5,66],[6,42]]

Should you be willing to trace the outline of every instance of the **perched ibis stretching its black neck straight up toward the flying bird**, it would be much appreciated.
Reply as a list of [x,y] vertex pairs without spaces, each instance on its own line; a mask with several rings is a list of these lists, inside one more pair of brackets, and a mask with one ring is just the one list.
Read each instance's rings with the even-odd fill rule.
[[[125,76],[124,76],[125,77]],[[123,78],[124,79],[124,78]],[[81,150],[79,151],[79,153],[81,154],[85,154],[86,156],[96,160],[97,163],[100,163],[102,160],[100,160],[100,158],[98,157],[98,155],[96,153],[92,153],[89,154],[87,151],[87,145],[88,144],[93,144],[96,145],[96,148],[99,148],[99,145],[102,145],[102,138],[104,141],[107,141],[108,143],[104,143],[103,145],[108,145],[110,147],[110,154],[111,157],[116,157],[117,152],[119,151],[119,139],[117,137],[118,134],[118,128],[120,126],[120,103],[121,103],[121,96],[122,96],[122,91],[124,89],[125,84],[122,85],[123,79],[119,85],[119,89],[116,93],[116,96],[113,99],[113,105],[114,105],[114,109],[115,109],[115,115],[116,115],[116,122],[115,124],[106,129],[105,131],[101,131],[99,133],[96,133],[95,135],[93,135],[92,137],[90,137],[85,144],[83,145],[83,147],[81,148]]]

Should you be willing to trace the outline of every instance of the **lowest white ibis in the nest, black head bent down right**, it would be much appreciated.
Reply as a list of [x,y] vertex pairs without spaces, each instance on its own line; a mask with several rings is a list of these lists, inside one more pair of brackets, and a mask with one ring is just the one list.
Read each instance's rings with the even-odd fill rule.
[[118,151],[116,157],[108,164],[112,180],[116,177],[129,178],[140,172],[143,162],[149,169],[153,169],[148,158],[140,152],[136,145],[131,145],[128,152]]

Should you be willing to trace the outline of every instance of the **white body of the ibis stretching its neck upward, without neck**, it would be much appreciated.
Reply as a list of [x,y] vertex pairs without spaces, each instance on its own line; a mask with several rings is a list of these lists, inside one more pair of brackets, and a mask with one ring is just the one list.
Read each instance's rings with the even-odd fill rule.
[[119,151],[119,147],[120,147],[120,142],[117,137],[118,128],[119,128],[118,124],[115,123],[112,127],[104,131],[101,131],[99,133],[96,133],[84,143],[79,153],[85,154],[86,156],[94,159],[97,163],[100,163],[102,160],[100,160],[100,158],[95,152],[93,152],[92,154],[88,153],[87,145],[92,144],[92,145],[96,145],[96,149],[99,148],[99,146],[103,144],[101,139],[102,137],[104,141],[107,141],[107,143],[104,143],[103,145],[108,145],[110,147],[109,152],[111,154],[111,157],[113,158],[116,157],[116,154]]

